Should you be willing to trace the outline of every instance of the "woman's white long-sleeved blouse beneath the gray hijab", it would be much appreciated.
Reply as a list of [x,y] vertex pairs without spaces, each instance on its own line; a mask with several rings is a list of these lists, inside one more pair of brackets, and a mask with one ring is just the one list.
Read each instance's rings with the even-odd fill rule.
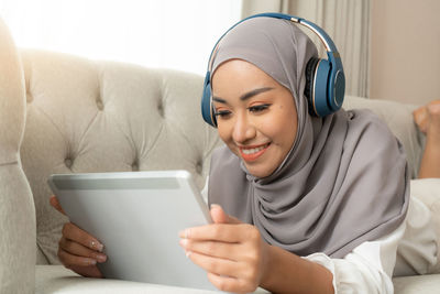
[[[208,200],[208,179],[201,192]],[[405,221],[392,233],[363,242],[343,259],[322,252],[305,259],[333,274],[334,293],[394,293],[393,275],[428,273],[437,264],[437,236],[427,206],[410,198]]]

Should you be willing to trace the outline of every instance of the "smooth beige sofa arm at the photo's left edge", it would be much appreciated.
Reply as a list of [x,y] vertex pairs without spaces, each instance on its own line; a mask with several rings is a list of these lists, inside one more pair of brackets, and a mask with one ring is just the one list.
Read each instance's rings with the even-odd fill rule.
[[25,92],[20,56],[0,20],[0,293],[32,293],[35,211],[20,160]]

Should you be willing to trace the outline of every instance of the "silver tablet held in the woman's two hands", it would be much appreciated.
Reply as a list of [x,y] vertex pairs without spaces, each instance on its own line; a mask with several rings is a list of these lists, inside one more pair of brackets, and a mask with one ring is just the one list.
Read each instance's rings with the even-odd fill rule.
[[48,184],[70,221],[103,243],[106,277],[215,290],[178,243],[180,230],[211,222],[190,173],[54,174]]

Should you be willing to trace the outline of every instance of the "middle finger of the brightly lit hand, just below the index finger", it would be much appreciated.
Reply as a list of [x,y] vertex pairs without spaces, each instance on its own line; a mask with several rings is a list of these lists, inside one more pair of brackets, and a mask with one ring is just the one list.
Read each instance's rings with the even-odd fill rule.
[[179,244],[185,249],[185,251],[197,252],[204,255],[228,259],[232,261],[237,261],[237,257],[240,255],[241,252],[237,249],[238,246],[235,243],[182,239]]

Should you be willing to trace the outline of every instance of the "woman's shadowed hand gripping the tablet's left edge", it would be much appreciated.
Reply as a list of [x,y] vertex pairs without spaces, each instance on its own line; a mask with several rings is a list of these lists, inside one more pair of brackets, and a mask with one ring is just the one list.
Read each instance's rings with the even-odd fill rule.
[[[66,215],[55,196],[50,198],[51,205]],[[96,265],[105,262],[107,255],[102,253],[103,246],[94,236],[81,230],[72,222],[63,227],[63,237],[59,240],[58,258],[67,269],[89,277],[102,277]]]

